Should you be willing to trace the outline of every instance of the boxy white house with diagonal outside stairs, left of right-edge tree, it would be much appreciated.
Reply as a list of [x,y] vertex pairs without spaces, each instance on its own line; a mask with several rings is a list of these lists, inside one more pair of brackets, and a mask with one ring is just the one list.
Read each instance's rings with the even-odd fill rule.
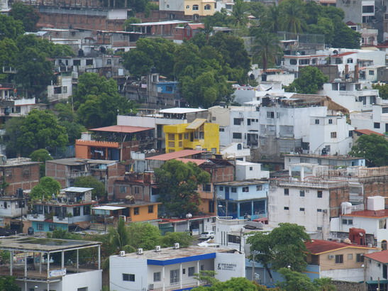
[[347,155],[353,146],[353,126],[345,115],[311,116],[309,153]]

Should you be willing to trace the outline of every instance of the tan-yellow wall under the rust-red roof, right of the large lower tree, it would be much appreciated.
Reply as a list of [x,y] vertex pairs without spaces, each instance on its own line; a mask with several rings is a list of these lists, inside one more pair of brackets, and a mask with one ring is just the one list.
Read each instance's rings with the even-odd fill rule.
[[[357,253],[367,254],[368,250],[365,248],[343,248],[330,253],[323,253],[319,256],[319,265],[321,270],[361,268],[363,263],[356,261]],[[349,254],[353,255],[352,258],[348,257]],[[334,256],[334,258],[329,259],[329,255]],[[336,255],[343,255],[343,263],[336,263]]]

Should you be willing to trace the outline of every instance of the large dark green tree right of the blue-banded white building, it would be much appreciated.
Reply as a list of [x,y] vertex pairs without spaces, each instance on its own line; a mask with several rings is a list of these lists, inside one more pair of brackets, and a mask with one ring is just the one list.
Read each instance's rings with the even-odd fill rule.
[[253,258],[264,265],[272,278],[270,268],[279,270],[290,266],[291,270],[301,272],[306,268],[306,246],[304,241],[309,235],[303,226],[279,224],[270,233],[257,233],[248,238],[250,251],[257,252]]

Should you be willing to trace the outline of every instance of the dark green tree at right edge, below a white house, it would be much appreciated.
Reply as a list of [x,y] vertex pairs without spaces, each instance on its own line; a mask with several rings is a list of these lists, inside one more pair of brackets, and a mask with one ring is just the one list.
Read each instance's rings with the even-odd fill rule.
[[365,134],[357,139],[349,154],[365,158],[367,166],[388,165],[388,141],[384,136]]

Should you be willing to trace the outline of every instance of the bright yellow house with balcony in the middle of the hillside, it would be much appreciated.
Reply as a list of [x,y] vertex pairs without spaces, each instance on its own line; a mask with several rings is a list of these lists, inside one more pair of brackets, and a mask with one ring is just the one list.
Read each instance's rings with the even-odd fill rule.
[[220,139],[217,123],[207,123],[206,119],[196,119],[192,123],[164,126],[166,153],[201,147],[212,153],[219,153]]

